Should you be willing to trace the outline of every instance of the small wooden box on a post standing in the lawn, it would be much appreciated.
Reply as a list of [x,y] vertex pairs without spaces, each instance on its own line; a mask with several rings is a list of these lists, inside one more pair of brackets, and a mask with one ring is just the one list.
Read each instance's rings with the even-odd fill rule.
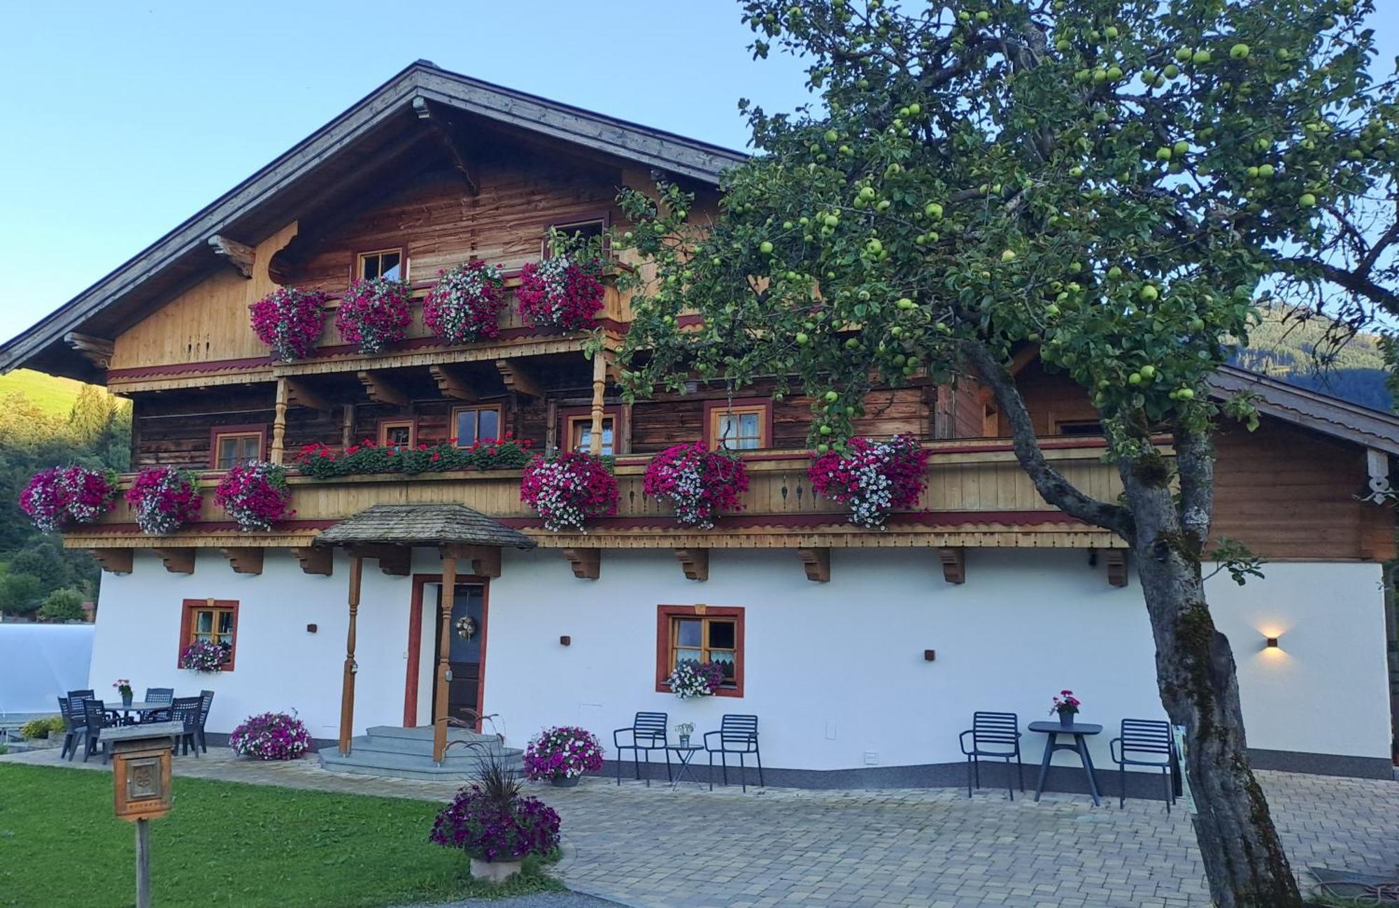
[[171,809],[171,752],[183,722],[102,729],[112,750],[116,816],[136,823],[136,908],[151,905],[150,821]]

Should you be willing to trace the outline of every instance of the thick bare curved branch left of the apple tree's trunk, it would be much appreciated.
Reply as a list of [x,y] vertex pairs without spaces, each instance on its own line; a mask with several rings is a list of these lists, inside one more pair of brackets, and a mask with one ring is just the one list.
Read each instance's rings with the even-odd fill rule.
[[986,345],[979,341],[968,341],[963,345],[963,351],[967,360],[977,369],[979,379],[995,393],[1002,415],[1010,422],[1010,439],[1016,450],[1016,460],[1020,461],[1020,467],[1030,476],[1035,490],[1044,496],[1044,500],[1070,517],[1111,529],[1132,542],[1136,529],[1129,510],[1084,495],[1045,460],[1039,440],[1035,437],[1034,422],[1030,419],[1030,411],[1025,409],[1024,398],[1020,397],[1016,380]]

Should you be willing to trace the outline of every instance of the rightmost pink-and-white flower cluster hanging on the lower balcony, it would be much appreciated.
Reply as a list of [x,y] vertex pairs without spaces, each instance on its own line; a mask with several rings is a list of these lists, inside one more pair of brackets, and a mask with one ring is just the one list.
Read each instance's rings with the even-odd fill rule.
[[883,529],[891,513],[918,503],[930,454],[902,434],[888,441],[851,439],[844,453],[818,457],[807,476],[820,495],[849,504],[852,524]]

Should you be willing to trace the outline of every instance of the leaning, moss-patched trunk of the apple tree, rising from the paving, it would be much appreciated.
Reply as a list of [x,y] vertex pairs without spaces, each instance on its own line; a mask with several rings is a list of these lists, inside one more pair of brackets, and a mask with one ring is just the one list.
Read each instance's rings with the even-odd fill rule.
[[[1182,464],[1184,467],[1184,464]],[[1156,638],[1161,704],[1185,726],[1191,817],[1214,904],[1301,905],[1263,791],[1249,768],[1228,638],[1214,629],[1200,580],[1200,543],[1179,521],[1151,460],[1122,465],[1136,518],[1137,577]]]

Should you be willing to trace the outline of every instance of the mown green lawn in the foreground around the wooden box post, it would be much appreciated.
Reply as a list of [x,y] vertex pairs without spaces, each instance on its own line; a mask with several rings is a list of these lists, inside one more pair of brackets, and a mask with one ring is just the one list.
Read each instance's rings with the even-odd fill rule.
[[[157,905],[378,908],[564,886],[526,863],[491,888],[464,854],[428,842],[442,805],[173,779],[151,821]],[[136,831],[112,816],[112,775],[0,764],[0,905],[136,901]],[[78,895],[81,893],[81,895]]]

